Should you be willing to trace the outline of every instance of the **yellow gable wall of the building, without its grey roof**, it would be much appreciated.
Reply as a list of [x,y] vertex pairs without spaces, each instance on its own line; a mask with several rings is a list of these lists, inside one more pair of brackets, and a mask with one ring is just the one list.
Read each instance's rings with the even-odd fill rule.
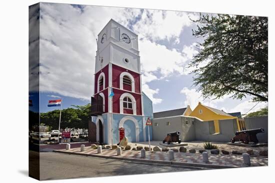
[[[202,110],[201,114],[199,114],[199,110]],[[215,133],[219,133],[218,120],[237,119],[237,117],[234,116],[224,116],[217,114],[200,103],[198,103],[198,105],[195,107],[195,109],[191,112],[189,116],[197,117],[202,121],[214,121]]]

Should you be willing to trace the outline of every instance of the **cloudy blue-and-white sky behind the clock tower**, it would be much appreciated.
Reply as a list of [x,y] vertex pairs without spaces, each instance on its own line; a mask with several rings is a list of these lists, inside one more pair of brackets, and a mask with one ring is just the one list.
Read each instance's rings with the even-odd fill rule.
[[[110,18],[139,37],[142,90],[153,101],[154,112],[186,107],[200,101],[225,112],[246,113],[256,103],[243,100],[211,100],[192,86],[186,66],[197,52],[192,36],[198,13],[41,3],[40,91],[41,109],[47,100],[63,99],[64,107],[89,103],[93,95],[96,38]],[[266,106],[259,103],[251,111]],[[44,106],[44,107],[42,107]],[[251,112],[250,111],[250,112]]]

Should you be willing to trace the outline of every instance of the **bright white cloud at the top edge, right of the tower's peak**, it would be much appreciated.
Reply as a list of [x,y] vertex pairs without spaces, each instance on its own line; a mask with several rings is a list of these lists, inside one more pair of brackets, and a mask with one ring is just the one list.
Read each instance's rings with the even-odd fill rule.
[[133,30],[140,38],[152,41],[159,39],[173,40],[179,43],[179,35],[184,26],[190,26],[197,13],[144,9],[141,18],[133,25]]

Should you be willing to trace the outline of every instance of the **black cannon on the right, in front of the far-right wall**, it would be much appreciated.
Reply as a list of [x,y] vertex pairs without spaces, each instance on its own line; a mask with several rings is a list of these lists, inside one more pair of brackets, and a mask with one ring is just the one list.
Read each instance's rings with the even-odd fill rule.
[[234,143],[235,141],[241,141],[244,144],[248,144],[249,142],[253,142],[257,144],[258,139],[256,134],[263,133],[263,132],[264,132],[263,128],[238,131],[235,133],[236,136],[231,139],[231,143]]

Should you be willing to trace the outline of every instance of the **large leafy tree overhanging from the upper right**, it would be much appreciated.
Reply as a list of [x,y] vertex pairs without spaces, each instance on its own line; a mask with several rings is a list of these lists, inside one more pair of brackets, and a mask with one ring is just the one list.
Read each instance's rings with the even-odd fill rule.
[[189,67],[203,97],[231,95],[268,101],[268,19],[260,16],[200,14],[192,35],[203,39]]

